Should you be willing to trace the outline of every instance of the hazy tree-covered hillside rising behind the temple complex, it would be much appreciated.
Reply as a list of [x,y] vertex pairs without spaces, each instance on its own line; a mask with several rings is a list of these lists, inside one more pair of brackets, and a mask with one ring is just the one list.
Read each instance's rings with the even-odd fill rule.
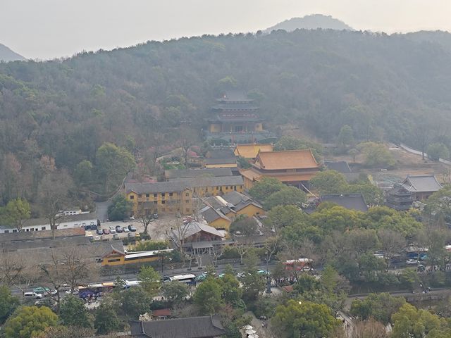
[[0,182],[22,170],[35,189],[21,191],[36,194],[36,168],[53,159],[73,175],[84,160],[95,171],[104,142],[143,154],[177,146],[180,125],[199,135],[230,86],[257,99],[273,130],[290,123],[334,142],[350,125],[357,139],[451,144],[451,54],[439,44],[332,30],[205,35],[0,63]]

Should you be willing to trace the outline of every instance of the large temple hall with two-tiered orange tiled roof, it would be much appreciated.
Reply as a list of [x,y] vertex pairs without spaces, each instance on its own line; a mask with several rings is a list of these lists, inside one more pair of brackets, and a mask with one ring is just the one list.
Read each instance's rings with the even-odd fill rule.
[[320,165],[309,150],[259,151],[249,169],[240,173],[245,187],[251,188],[262,177],[273,177],[295,187],[308,187],[309,180],[319,172]]

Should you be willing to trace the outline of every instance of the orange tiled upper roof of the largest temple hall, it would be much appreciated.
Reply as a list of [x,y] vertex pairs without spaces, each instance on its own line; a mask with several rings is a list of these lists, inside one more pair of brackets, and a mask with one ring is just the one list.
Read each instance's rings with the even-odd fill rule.
[[259,151],[254,165],[265,170],[318,168],[309,150]]

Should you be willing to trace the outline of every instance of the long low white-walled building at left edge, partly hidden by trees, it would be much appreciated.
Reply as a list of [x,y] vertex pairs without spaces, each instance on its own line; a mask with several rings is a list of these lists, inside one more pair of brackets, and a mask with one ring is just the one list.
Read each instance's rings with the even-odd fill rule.
[[[70,229],[73,227],[85,227],[87,225],[97,225],[96,213],[80,213],[75,215],[61,215],[56,220],[57,229]],[[49,220],[47,218],[31,218],[25,222],[22,231],[33,232],[51,230]],[[0,234],[18,232],[16,228],[0,225]]]

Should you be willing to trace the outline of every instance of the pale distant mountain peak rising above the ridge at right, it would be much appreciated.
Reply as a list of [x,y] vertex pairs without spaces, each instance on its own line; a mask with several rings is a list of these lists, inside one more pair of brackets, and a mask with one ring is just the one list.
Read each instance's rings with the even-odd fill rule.
[[305,15],[304,18],[291,18],[285,20],[273,27],[269,27],[264,32],[270,33],[273,30],[286,30],[292,32],[297,29],[316,30],[321,28],[323,30],[354,30],[354,28],[346,25],[344,22],[332,18],[330,15],[311,14]]

